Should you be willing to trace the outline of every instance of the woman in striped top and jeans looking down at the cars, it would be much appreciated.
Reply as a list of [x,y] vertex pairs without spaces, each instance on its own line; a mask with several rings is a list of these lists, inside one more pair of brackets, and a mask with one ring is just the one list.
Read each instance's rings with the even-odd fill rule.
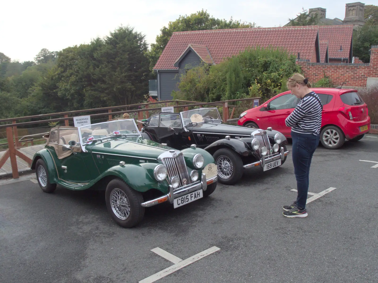
[[310,90],[311,84],[308,79],[301,74],[294,74],[290,77],[287,87],[301,101],[285,120],[285,124],[291,127],[291,138],[293,139],[291,155],[293,156],[298,195],[297,200],[290,206],[283,206],[283,215],[290,218],[307,217],[308,176],[312,156],[319,144],[323,106],[316,93]]

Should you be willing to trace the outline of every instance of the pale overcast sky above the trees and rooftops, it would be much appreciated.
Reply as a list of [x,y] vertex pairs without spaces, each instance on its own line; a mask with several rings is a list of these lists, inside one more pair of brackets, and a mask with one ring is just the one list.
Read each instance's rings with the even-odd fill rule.
[[[215,18],[255,22],[259,26],[285,25],[305,9],[327,9],[327,18],[344,19],[347,1],[299,0],[4,0],[0,16],[0,52],[12,60],[34,60],[42,48],[58,51],[104,37],[119,25],[130,25],[155,42],[160,29],[179,15],[201,9]],[[372,1],[366,3],[372,4]]]

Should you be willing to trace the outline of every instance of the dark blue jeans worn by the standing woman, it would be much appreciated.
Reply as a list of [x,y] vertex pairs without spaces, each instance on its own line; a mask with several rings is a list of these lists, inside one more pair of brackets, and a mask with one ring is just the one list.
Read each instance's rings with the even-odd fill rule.
[[291,155],[293,156],[294,173],[297,179],[298,190],[297,206],[299,209],[305,209],[311,159],[319,145],[319,135],[314,136],[313,134],[300,134],[291,131],[291,138],[293,139]]

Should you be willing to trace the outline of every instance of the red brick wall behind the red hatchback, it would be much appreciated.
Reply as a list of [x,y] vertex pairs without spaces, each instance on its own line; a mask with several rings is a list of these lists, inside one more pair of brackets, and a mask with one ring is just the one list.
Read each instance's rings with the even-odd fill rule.
[[368,77],[378,77],[378,46],[372,46],[370,63],[311,63],[297,61],[301,65],[304,76],[310,82],[317,82],[324,74],[329,76],[334,85],[366,87]]

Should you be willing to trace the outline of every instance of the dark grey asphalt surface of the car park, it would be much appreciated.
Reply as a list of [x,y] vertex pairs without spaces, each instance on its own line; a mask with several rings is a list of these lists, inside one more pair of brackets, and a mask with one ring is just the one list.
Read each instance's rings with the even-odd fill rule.
[[208,198],[149,208],[132,229],[111,219],[104,192],[47,194],[30,179],[2,185],[0,281],[139,282],[217,247],[156,282],[378,282],[378,136],[367,136],[318,147],[309,191],[336,189],[311,201],[307,218],[282,215],[296,198],[291,155]]

